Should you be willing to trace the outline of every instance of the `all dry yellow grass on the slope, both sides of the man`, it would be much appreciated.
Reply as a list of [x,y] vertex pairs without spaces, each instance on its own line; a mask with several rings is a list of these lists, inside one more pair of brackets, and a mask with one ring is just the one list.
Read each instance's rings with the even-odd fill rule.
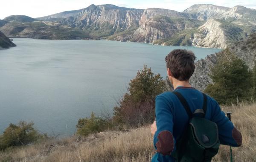
[[[233,148],[234,162],[256,162],[256,104],[223,107],[241,131],[243,145]],[[128,132],[99,133],[87,138],[48,140],[0,152],[6,162],[148,162],[154,153],[150,127]],[[213,162],[227,162],[228,146],[221,146]]]

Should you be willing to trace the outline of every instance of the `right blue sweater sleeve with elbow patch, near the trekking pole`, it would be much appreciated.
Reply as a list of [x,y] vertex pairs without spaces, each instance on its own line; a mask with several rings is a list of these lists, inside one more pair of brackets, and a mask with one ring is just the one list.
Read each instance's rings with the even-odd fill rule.
[[239,130],[234,127],[233,123],[221,111],[217,101],[214,100],[214,110],[212,114],[212,122],[218,126],[219,139],[222,145],[230,145],[239,147],[242,144],[242,136]]

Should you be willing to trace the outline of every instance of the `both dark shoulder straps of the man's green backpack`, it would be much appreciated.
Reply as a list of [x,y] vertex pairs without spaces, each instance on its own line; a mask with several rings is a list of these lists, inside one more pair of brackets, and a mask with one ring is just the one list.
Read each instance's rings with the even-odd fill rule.
[[[191,112],[191,110],[190,110],[190,108],[189,108],[189,104],[187,103],[187,101],[186,101],[186,99],[183,97],[183,95],[181,95],[179,92],[177,92],[177,91],[173,91],[172,93],[174,93],[176,96],[177,96],[177,98],[180,100],[180,103],[183,105],[183,107],[185,108],[185,110],[186,110],[186,113],[187,113],[187,115],[189,116],[189,119],[191,119],[192,118],[192,116],[193,116],[193,113]],[[203,96],[204,96],[204,103],[203,103],[203,110],[204,110],[204,116],[205,116],[205,114],[206,114],[206,112],[207,112],[207,95],[205,95],[204,93],[203,93]],[[203,116],[203,117],[204,117]]]

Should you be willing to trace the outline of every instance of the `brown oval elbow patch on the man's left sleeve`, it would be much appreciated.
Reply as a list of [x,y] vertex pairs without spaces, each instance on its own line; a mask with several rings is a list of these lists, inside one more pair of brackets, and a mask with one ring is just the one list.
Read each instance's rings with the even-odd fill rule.
[[160,132],[157,136],[157,152],[163,155],[170,155],[174,149],[174,138],[168,130]]

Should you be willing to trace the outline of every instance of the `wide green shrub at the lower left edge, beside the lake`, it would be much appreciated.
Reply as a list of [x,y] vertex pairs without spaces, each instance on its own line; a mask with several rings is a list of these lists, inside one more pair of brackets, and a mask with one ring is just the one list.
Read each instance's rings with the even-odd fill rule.
[[11,123],[0,136],[0,150],[11,146],[28,145],[46,137],[38,133],[33,125],[33,122],[20,122],[18,125]]

